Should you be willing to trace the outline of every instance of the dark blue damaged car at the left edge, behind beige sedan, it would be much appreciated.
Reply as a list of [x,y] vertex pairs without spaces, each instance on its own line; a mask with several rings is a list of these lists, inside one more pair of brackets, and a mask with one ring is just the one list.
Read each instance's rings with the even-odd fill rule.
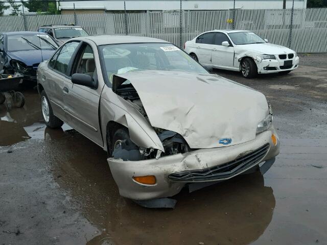
[[0,74],[22,75],[36,81],[40,62],[48,60],[58,45],[48,34],[8,32],[0,34]]

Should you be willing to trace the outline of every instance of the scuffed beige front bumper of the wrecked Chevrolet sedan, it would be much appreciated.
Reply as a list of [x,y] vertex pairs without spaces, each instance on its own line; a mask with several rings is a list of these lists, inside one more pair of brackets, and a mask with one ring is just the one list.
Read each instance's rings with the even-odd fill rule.
[[[274,145],[271,135],[277,138]],[[266,149],[261,155],[256,154],[256,158],[248,165],[230,170],[231,173],[220,175],[216,169],[225,168],[231,163],[244,158],[254,156],[255,150]],[[262,152],[262,151],[260,151]],[[197,151],[161,157],[159,159],[149,159],[141,161],[123,161],[122,159],[108,158],[112,176],[118,185],[120,194],[133,200],[149,200],[156,198],[172,197],[177,194],[184,185],[194,182],[209,182],[226,180],[242,174],[244,171],[255,167],[261,162],[274,158],[279,153],[279,138],[274,129],[258,134],[254,140],[238,145],[225,146],[214,149],[200,149]],[[255,157],[255,156],[254,156]],[[227,166],[228,167],[228,166]],[[241,168],[241,169],[240,169]],[[209,170],[209,171],[207,171]],[[214,172],[216,170],[216,172]],[[227,169],[228,170],[228,169]],[[212,173],[218,175],[213,176]],[[233,172],[233,173],[232,173]],[[184,173],[209,173],[207,178],[188,178]],[[224,172],[226,173],[226,171]],[[156,184],[145,185],[133,180],[134,176],[149,176],[156,178]],[[205,175],[205,174],[204,174]],[[179,179],[181,177],[181,179]]]

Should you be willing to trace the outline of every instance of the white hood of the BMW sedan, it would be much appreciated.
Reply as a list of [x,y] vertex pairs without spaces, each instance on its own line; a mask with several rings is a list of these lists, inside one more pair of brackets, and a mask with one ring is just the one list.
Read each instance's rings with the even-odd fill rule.
[[281,45],[276,45],[272,43],[253,43],[238,45],[237,47],[244,49],[246,51],[253,50],[255,52],[260,52],[265,55],[279,55],[279,54],[289,54],[294,53],[290,48],[283,47]]

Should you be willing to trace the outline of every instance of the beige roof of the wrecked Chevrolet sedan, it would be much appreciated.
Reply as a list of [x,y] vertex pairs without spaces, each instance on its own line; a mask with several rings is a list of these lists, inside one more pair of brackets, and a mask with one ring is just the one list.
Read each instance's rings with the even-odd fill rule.
[[152,38],[152,37],[141,37],[141,36],[119,36],[119,35],[100,35],[100,36],[86,36],[86,37],[76,37],[71,40],[92,40],[97,45],[105,44],[119,44],[119,43],[170,43],[165,40]]

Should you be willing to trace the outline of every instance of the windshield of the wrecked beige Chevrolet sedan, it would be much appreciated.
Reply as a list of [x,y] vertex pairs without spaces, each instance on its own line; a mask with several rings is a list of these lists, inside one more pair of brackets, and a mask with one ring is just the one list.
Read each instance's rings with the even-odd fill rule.
[[207,74],[188,54],[170,43],[130,43],[100,46],[109,81],[113,74],[139,70],[171,70]]

